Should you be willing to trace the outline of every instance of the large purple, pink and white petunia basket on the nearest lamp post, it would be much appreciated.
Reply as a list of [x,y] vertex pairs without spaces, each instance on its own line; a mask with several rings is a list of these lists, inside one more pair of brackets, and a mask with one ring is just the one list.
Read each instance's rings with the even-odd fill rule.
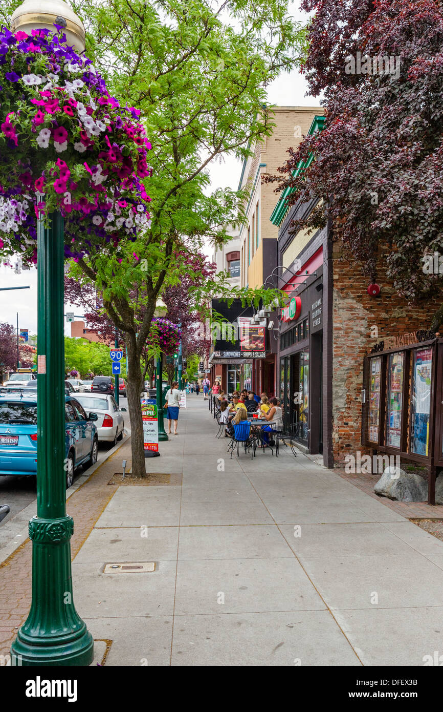
[[151,144],[90,60],[48,30],[0,29],[0,251],[36,262],[37,218],[65,218],[65,256],[149,227]]

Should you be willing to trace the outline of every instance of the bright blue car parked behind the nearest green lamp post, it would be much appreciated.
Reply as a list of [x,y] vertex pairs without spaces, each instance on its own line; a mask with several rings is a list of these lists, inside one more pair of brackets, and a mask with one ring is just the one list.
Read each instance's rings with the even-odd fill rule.
[[[65,397],[66,487],[79,465],[97,462],[96,413],[86,414],[73,397]],[[37,473],[37,394],[31,390],[0,392],[0,476]]]

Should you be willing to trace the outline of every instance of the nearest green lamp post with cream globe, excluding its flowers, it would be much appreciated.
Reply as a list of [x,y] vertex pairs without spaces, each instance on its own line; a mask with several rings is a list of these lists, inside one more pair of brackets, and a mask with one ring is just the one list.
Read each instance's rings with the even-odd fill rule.
[[[25,0],[14,12],[13,31],[65,28],[67,43],[85,49],[85,30],[63,0]],[[29,522],[32,541],[32,602],[11,646],[13,665],[89,665],[94,642],[73,604],[70,538],[66,515],[63,216],[49,226],[38,221],[38,411],[37,515]]]

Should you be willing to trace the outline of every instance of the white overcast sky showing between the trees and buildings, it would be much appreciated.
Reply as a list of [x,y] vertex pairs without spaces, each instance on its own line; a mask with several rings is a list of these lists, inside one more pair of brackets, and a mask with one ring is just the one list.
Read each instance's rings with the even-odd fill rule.
[[[297,8],[298,1],[294,8]],[[306,16],[297,9],[293,11],[295,19],[306,21]],[[319,106],[319,98],[305,96],[306,82],[304,77],[297,71],[285,73],[275,80],[268,88],[268,100],[272,104],[280,106]],[[231,187],[236,189],[240,180],[241,163],[235,158],[227,157],[221,164],[215,163],[210,167],[211,187]],[[208,248],[208,256],[212,254],[212,248]],[[0,286],[16,287],[30,286],[30,289],[0,291],[0,322],[8,322],[16,325],[16,313],[18,312],[19,328],[26,328],[29,333],[37,333],[37,273],[36,269],[23,270],[21,274],[15,274],[9,267],[0,265]],[[78,308],[65,305],[65,312],[73,311],[75,315],[81,315]],[[65,334],[70,336],[70,324],[65,322]]]

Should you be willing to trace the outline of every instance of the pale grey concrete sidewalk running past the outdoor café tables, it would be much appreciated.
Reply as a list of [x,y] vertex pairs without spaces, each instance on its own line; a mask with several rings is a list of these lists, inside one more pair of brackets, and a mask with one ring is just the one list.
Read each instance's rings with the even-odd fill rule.
[[[116,488],[75,556],[75,605],[112,641],[107,665],[420,666],[443,653],[442,542],[304,455],[230,460],[216,430],[188,397],[179,435],[146,460],[182,484]],[[156,570],[103,573],[110,562]]]

